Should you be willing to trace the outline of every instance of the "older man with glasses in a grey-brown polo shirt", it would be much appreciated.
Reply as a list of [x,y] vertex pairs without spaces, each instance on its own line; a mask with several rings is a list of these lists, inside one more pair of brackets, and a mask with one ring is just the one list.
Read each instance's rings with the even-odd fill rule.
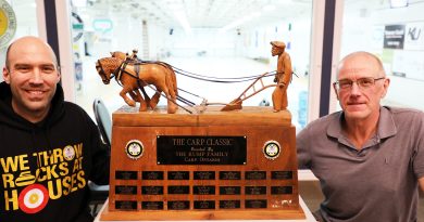
[[297,135],[299,168],[319,178],[319,221],[416,221],[424,191],[424,114],[382,106],[390,80],[367,52],[341,60],[333,87],[341,112]]

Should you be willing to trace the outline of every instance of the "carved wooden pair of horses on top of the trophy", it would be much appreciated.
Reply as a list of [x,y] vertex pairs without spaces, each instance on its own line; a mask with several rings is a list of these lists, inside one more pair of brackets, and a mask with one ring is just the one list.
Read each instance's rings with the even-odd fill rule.
[[139,94],[138,89],[148,84],[153,84],[157,89],[149,104],[152,108],[157,106],[161,92],[164,92],[167,99],[169,114],[174,114],[178,108],[176,104],[177,86],[175,73],[166,63],[127,63],[117,57],[103,57],[97,61],[96,69],[103,83],[109,84],[113,76],[122,83],[123,89],[120,95],[129,106],[135,106],[136,104],[126,94],[136,92],[137,97],[141,100],[140,112],[147,110],[147,104]]

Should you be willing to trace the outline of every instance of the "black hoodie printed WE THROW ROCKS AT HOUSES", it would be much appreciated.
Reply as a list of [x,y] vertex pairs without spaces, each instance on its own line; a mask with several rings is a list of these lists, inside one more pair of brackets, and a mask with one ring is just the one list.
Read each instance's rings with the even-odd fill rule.
[[109,149],[95,122],[58,84],[45,120],[16,115],[0,83],[0,221],[92,221],[88,185],[109,182]]

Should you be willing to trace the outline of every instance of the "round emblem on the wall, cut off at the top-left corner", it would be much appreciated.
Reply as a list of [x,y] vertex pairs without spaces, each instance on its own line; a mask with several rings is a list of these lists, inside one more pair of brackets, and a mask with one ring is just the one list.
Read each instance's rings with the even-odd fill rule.
[[0,0],[0,49],[8,45],[16,31],[16,16],[8,1]]

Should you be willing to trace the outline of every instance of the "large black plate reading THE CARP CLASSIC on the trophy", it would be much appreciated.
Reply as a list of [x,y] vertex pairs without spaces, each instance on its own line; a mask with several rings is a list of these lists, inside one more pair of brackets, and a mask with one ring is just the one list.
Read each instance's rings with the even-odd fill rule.
[[246,165],[246,136],[157,138],[158,165]]

